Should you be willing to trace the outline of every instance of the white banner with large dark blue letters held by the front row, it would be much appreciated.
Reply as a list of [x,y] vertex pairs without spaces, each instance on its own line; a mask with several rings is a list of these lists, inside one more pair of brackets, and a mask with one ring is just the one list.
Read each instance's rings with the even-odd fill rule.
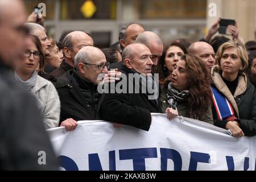
[[153,114],[149,131],[80,121],[76,130],[48,130],[65,170],[255,170],[256,137],[190,118]]

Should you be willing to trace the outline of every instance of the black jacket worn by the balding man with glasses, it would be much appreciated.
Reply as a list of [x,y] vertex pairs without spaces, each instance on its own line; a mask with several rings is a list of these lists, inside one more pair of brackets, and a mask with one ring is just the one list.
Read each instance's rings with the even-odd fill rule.
[[55,87],[60,97],[60,122],[67,118],[76,121],[101,119],[98,110],[104,95],[97,92],[97,85],[71,70],[57,79]]

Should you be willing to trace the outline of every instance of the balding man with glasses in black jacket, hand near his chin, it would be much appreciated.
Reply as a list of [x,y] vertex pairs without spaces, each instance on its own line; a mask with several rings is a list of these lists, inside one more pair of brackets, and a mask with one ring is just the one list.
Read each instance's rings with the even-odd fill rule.
[[[98,114],[104,95],[98,93],[98,84],[115,80],[118,72],[108,72],[109,63],[104,53],[92,46],[85,46],[75,56],[75,68],[60,76],[56,83],[61,111],[60,121],[101,119]],[[113,74],[113,75],[112,75]],[[104,77],[105,76],[105,77]]]

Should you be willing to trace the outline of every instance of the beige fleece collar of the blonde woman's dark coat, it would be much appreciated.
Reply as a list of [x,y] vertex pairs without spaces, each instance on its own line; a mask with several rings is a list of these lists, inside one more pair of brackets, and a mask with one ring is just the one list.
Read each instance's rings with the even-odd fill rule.
[[222,77],[220,75],[220,68],[218,67],[218,65],[214,65],[212,67],[211,75],[212,75],[213,84],[216,86],[216,88],[222,94],[224,94],[224,96],[226,98],[228,98],[230,104],[232,104],[232,106],[236,110],[237,116],[239,118],[239,111],[238,111],[238,106],[237,106],[237,102],[236,102],[235,98],[237,96],[245,93],[245,91],[246,91],[247,77],[246,77],[245,73],[242,73],[242,75],[240,75],[238,77],[238,85],[237,85],[236,91],[234,93],[234,96],[230,92],[228,86],[226,86],[225,82],[222,80]]

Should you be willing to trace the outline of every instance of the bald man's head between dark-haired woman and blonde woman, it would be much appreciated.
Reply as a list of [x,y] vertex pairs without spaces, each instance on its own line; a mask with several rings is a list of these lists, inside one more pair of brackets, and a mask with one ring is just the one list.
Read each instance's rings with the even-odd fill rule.
[[188,47],[188,53],[204,60],[208,68],[216,63],[213,47],[206,42],[195,42]]

